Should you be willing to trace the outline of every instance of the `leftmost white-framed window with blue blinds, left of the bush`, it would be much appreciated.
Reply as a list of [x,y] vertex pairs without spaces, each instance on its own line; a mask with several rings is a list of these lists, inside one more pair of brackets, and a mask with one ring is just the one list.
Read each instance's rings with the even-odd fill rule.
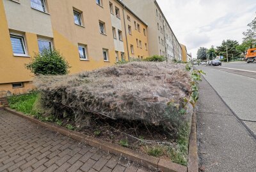
[[23,36],[10,35],[14,55],[26,55],[26,45]]

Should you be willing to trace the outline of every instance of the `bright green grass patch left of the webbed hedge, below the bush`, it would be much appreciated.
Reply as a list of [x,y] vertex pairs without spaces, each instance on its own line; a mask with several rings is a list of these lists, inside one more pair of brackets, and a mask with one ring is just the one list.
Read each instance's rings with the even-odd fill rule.
[[8,97],[8,102],[10,108],[30,115],[37,96],[38,92],[31,92],[18,96],[10,96]]

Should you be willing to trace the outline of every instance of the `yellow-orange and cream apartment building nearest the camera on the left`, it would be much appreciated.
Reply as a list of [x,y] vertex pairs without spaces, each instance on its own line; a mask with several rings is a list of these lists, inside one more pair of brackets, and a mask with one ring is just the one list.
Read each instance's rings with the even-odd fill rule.
[[33,89],[24,64],[44,48],[71,74],[149,55],[147,24],[118,0],[1,0],[0,21],[0,91],[10,94]]

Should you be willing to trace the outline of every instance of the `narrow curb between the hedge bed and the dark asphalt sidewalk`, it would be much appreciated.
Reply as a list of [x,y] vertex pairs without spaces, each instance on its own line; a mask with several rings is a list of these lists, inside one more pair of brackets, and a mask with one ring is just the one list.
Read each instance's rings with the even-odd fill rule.
[[191,132],[189,134],[188,172],[198,172],[198,154],[196,137],[196,111],[193,111]]

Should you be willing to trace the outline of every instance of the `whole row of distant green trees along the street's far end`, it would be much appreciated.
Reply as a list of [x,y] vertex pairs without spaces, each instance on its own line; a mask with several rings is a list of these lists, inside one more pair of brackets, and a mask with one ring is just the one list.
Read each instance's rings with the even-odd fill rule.
[[221,45],[214,48],[200,47],[197,51],[197,59],[205,61],[212,60],[217,56],[222,56],[223,61],[230,61],[244,57],[248,48],[256,47],[256,17],[248,24],[247,31],[243,32],[243,42],[239,44],[238,41],[227,39],[223,40]]

